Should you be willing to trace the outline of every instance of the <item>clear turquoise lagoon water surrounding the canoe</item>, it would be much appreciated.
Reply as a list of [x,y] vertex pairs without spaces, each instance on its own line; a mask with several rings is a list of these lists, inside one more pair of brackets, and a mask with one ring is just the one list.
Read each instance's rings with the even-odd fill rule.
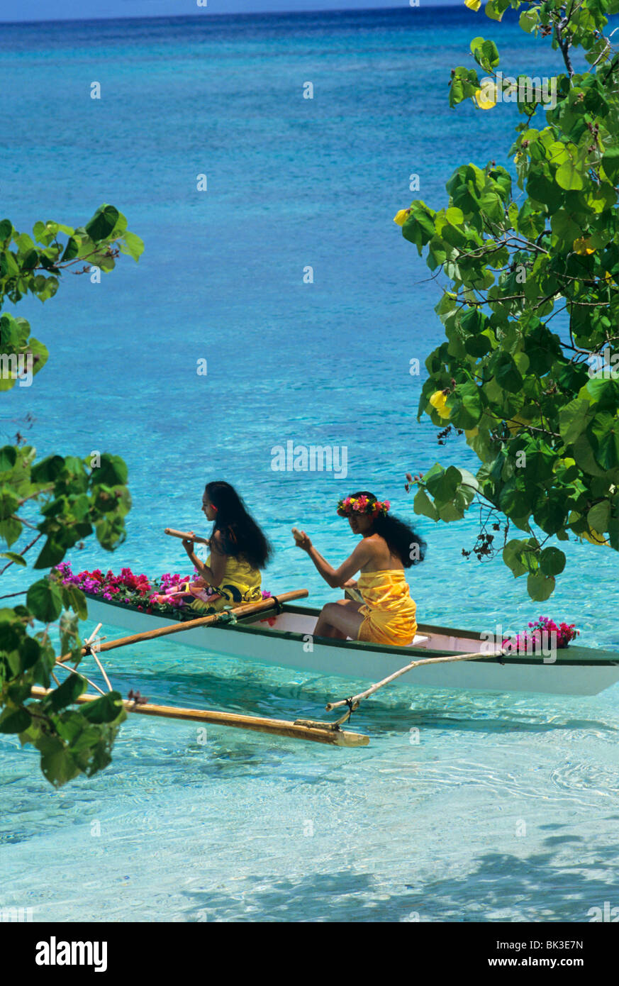
[[[374,489],[411,518],[407,470],[474,466],[415,420],[410,360],[441,338],[440,289],[391,218],[417,195],[443,203],[462,162],[507,163],[511,107],[447,107],[448,68],[480,33],[504,72],[554,71],[512,21],[459,7],[3,27],[0,86],[19,96],[0,106],[3,215],[77,226],[112,202],[146,244],[99,285],[67,275],[19,307],[51,357],[3,396],[3,439],[21,427],[41,454],[129,465],[126,543],[89,543],[76,566],[182,570],[162,530],[201,529],[203,484],[222,477],[276,547],[266,588],[319,603],[294,524],[338,561],[343,493]],[[289,439],[346,446],[348,475],[273,471]],[[474,518],[418,527],[421,620],[518,629],[546,612],[619,649],[610,552],[569,545],[539,606],[499,560],[462,557]],[[283,718],[351,687],[163,641],[106,667],[154,701]],[[59,792],[4,738],[0,905],[43,921],[586,921],[619,903],[618,699],[385,691],[357,717],[361,750],[132,721],[109,769]]]

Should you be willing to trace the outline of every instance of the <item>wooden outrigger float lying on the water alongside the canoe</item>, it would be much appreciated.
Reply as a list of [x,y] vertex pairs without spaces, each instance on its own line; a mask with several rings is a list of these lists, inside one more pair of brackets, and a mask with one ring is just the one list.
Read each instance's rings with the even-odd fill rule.
[[[43,698],[50,694],[53,688],[34,686],[32,694],[35,698]],[[79,695],[76,702],[96,702],[98,695]],[[345,730],[334,730],[325,723],[324,727],[305,726],[303,723],[293,723],[286,719],[266,719],[262,716],[241,716],[232,712],[214,712],[210,709],[181,709],[172,705],[135,705],[129,699],[123,699],[127,712],[137,712],[142,716],[160,716],[164,719],[182,719],[195,723],[211,723],[213,726],[231,726],[239,730],[251,730],[254,733],[270,733],[274,736],[291,737],[295,740],[313,740],[314,742],[330,743],[334,746],[367,746],[370,738],[361,733],[349,733]]]

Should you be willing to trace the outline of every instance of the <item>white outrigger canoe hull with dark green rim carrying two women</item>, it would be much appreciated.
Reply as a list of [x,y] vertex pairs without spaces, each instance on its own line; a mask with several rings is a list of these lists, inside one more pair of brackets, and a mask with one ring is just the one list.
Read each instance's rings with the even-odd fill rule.
[[[174,618],[182,622],[173,614],[146,613],[101,597],[87,599],[89,619],[133,633],[170,625]],[[489,647],[479,633],[429,624],[418,626],[410,647],[313,637],[318,612],[309,606],[280,604],[274,598],[272,609],[241,617],[237,622],[187,629],[181,642],[202,651],[278,668],[370,681],[378,681],[416,659],[477,654],[487,652]],[[473,691],[596,695],[618,680],[619,651],[571,645],[558,650],[555,661],[534,654],[497,654],[480,660],[437,663],[434,667],[426,664],[393,683]]]

